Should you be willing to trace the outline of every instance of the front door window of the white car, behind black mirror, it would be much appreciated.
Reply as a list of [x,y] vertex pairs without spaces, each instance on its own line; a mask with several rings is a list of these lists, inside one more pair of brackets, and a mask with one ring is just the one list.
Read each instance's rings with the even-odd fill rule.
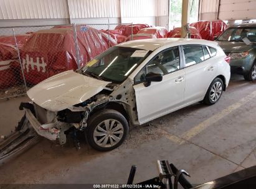
[[146,66],[135,76],[135,84],[146,81],[147,73],[166,75],[179,70],[179,48],[172,47],[164,50],[150,60]]

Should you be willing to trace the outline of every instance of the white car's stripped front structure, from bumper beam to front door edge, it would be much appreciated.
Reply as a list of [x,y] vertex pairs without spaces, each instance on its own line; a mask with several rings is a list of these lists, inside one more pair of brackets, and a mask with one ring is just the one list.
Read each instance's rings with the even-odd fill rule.
[[[39,126],[39,129],[34,128],[40,136],[52,141],[57,139],[60,144],[65,144],[66,135],[70,131],[84,131],[90,115],[99,109],[115,106],[115,104],[123,106],[128,113],[128,117],[132,118],[130,119],[131,124],[137,124],[135,92],[131,85],[124,84],[109,84],[100,93],[95,94],[83,103],[75,104],[70,108],[58,112],[44,109],[36,103],[22,103],[20,109],[25,108],[26,114],[29,114],[29,116],[31,116],[31,113],[34,114],[40,124],[42,124]],[[28,113],[28,109],[31,113]]]

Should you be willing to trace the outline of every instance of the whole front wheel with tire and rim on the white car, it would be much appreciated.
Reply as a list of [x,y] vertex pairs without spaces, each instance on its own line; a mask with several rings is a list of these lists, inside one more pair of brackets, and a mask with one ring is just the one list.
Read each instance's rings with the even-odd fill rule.
[[128,122],[121,113],[113,109],[103,109],[88,120],[85,131],[87,141],[93,149],[113,150],[123,143],[128,135]]

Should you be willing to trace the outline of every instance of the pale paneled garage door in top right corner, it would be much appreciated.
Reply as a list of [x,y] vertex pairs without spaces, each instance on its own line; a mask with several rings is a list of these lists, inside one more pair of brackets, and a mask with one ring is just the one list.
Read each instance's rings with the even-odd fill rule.
[[256,1],[220,0],[219,19],[256,19]]

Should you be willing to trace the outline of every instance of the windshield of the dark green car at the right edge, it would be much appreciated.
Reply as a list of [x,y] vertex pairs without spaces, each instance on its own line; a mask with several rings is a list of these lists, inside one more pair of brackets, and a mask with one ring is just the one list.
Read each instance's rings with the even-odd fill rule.
[[237,27],[225,30],[220,35],[219,41],[242,42],[247,37],[251,42],[256,42],[256,27]]

